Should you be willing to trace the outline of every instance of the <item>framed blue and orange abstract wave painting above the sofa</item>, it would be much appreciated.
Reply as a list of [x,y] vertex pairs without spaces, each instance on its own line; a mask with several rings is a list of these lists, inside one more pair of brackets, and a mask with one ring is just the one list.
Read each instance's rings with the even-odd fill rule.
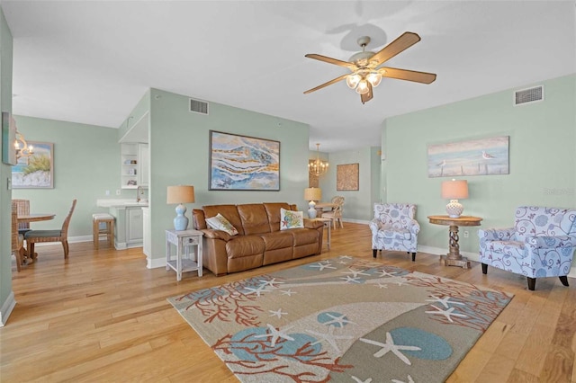
[[209,190],[279,191],[280,141],[210,131]]

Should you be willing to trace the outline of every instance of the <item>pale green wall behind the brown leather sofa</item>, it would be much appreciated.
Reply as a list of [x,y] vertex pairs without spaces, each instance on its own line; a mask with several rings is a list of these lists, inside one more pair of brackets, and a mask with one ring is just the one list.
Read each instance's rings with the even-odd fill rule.
[[[152,258],[165,256],[165,230],[173,227],[175,206],[166,205],[166,187],[192,184],[193,208],[220,203],[285,201],[305,209],[309,126],[292,120],[210,102],[209,115],[188,111],[189,97],[152,89],[150,94],[150,219]],[[280,141],[280,191],[209,191],[209,130]]]

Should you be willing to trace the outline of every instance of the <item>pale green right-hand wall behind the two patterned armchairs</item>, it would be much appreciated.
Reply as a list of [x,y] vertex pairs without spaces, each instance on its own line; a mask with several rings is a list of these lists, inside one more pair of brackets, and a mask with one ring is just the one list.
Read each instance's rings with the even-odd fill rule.
[[[509,136],[510,174],[458,177],[469,183],[464,215],[482,217],[482,227],[512,226],[516,207],[524,204],[576,207],[576,75],[535,85],[545,85],[544,102],[515,107],[514,90],[507,90],[386,121],[386,200],[418,205],[419,245],[445,248],[448,242],[447,227],[427,218],[446,214],[440,185],[449,179],[428,178],[429,144]],[[478,227],[468,230],[469,238],[461,233],[461,250],[477,253]]]

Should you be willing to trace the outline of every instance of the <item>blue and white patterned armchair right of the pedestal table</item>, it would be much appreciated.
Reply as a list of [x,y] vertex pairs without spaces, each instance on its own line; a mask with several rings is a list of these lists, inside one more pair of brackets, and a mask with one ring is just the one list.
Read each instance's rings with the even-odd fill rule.
[[566,276],[576,249],[576,209],[521,206],[514,227],[478,230],[482,272],[488,266],[527,276],[528,289],[536,278]]

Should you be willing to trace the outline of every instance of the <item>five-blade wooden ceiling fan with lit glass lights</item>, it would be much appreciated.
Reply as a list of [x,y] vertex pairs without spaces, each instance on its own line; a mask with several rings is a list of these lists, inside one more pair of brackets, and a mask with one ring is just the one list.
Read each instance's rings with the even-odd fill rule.
[[326,56],[309,53],[305,55],[306,58],[314,58],[329,64],[338,65],[340,67],[347,67],[352,73],[342,75],[330,80],[327,83],[318,85],[315,88],[309,89],[304,94],[310,94],[314,91],[322,89],[328,85],[338,83],[338,81],[346,79],[348,87],[356,89],[356,93],[360,94],[362,103],[372,100],[373,88],[378,86],[382,81],[382,77],[397,78],[399,80],[414,81],[416,83],[430,84],[436,80],[434,73],[417,72],[408,69],[398,69],[394,67],[381,67],[383,63],[393,58],[401,51],[409,49],[412,45],[419,42],[420,37],[418,34],[407,31],[404,32],[398,39],[393,40],[390,44],[385,46],[379,52],[372,52],[365,50],[366,45],[370,43],[370,37],[362,36],[357,40],[358,45],[362,47],[362,52],[358,52],[349,58],[348,61],[338,60],[336,58],[328,58]]

